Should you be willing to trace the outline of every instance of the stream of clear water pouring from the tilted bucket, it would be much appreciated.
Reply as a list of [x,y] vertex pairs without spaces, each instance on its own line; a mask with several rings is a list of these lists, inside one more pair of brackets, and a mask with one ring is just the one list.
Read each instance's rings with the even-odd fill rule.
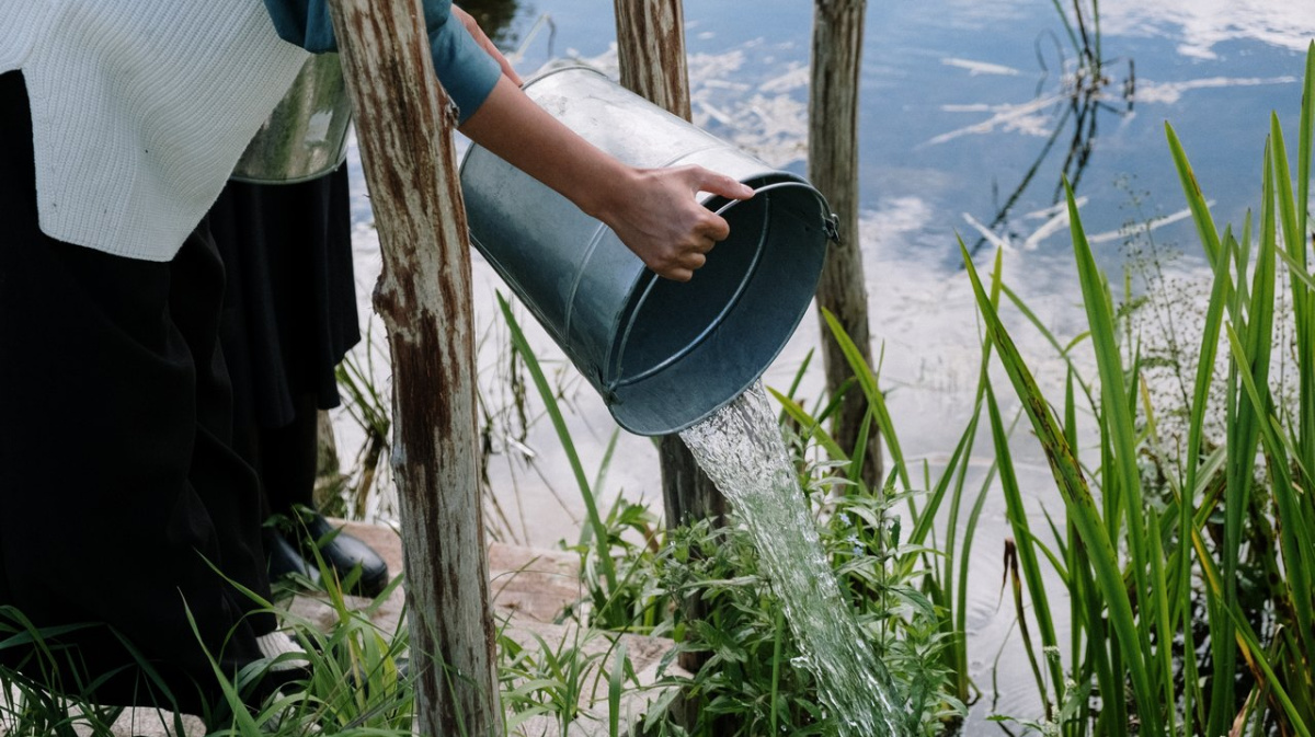
[[840,596],[761,384],[680,437],[748,528],[840,734],[905,736],[890,674]]

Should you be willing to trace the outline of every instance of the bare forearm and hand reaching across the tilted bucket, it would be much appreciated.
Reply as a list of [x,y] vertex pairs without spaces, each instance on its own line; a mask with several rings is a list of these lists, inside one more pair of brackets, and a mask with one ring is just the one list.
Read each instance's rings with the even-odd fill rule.
[[753,190],[702,167],[638,169],[596,148],[501,78],[462,133],[605,222],[660,276],[688,281],[730,233],[700,190],[747,200]]

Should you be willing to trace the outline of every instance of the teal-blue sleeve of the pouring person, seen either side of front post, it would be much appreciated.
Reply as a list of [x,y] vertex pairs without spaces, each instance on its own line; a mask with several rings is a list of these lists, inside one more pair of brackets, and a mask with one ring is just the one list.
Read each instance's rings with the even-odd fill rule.
[[[327,0],[264,0],[279,37],[306,51],[337,51]],[[422,0],[430,55],[443,89],[466,122],[484,104],[502,70],[466,26],[452,17],[452,0]]]

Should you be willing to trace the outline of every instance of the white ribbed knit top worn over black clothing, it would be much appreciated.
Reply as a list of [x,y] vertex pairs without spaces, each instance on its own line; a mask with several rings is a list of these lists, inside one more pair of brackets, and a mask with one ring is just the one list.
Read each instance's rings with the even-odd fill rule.
[[0,0],[0,71],[21,68],[32,102],[41,230],[172,259],[305,59],[262,0]]

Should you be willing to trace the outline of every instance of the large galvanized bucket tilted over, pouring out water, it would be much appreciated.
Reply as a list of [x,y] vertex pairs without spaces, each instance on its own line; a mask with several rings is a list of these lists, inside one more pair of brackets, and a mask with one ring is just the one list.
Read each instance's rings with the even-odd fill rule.
[[702,194],[730,238],[689,282],[658,277],[597,219],[485,148],[462,162],[471,240],[593,384],[617,422],[676,432],[744,391],[807,310],[831,210],[806,181],[776,171],[588,67],[525,85],[585,139],[638,167],[701,164],[756,189]]

